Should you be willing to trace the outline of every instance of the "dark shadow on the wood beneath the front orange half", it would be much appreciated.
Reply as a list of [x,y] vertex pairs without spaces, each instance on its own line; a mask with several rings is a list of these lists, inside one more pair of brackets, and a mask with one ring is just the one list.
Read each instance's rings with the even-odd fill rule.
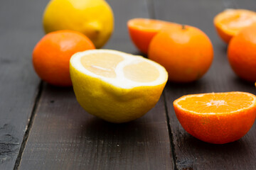
[[[247,157],[243,158],[245,160],[250,157],[251,146],[245,138],[225,145],[214,145],[198,140],[187,132],[183,132],[176,133],[174,139],[176,139],[174,140],[174,144],[176,145],[175,150],[177,149],[179,152],[187,153],[187,157],[179,152],[177,153],[177,156],[180,157],[180,159],[176,161],[178,169],[197,169],[198,166],[210,166],[211,159],[214,159],[215,162],[232,164],[228,161],[235,157],[240,157],[240,155],[247,155]],[[191,154],[193,154],[193,156]],[[216,166],[217,165],[215,165],[215,167]],[[223,164],[218,164],[219,169],[223,169],[223,166]],[[234,165],[230,165],[229,167],[232,166]]]

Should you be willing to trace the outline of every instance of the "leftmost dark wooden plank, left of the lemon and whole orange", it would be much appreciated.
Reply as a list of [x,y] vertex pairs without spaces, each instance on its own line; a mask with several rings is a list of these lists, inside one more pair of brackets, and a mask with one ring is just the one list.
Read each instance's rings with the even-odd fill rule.
[[0,2],[0,169],[14,169],[38,94],[31,52],[42,35],[42,4]]

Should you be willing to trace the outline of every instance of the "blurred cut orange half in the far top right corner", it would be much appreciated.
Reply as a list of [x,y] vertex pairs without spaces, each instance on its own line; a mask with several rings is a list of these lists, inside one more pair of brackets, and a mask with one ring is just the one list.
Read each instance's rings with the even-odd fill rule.
[[245,9],[226,9],[213,19],[214,26],[224,42],[229,42],[242,28],[256,23],[256,13]]

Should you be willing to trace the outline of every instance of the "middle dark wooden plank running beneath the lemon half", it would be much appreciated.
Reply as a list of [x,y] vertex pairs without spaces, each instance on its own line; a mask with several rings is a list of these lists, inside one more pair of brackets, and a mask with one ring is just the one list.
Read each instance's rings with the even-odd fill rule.
[[[137,53],[127,20],[147,17],[145,1],[108,1],[115,32],[105,48]],[[19,169],[173,169],[162,97],[143,118],[120,125],[87,114],[72,88],[44,84]]]

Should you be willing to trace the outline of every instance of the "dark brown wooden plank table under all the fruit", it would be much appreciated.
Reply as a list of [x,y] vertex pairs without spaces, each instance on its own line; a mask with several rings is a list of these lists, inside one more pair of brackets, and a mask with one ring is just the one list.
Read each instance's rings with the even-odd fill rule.
[[157,18],[201,28],[213,42],[209,72],[191,84],[166,84],[144,117],[116,125],[87,114],[72,88],[41,82],[31,52],[43,36],[48,0],[0,1],[0,169],[256,169],[256,127],[241,140],[211,145],[188,135],[172,102],[185,94],[247,91],[230,69],[213,17],[225,8],[256,9],[255,0],[107,0],[115,30],[105,48],[139,54],[130,18]]

